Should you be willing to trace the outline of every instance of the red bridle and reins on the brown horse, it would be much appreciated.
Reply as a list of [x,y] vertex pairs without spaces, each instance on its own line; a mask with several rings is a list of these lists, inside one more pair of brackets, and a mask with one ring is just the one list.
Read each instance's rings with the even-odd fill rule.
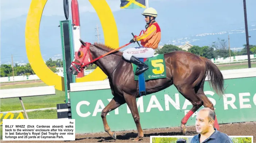
[[[125,44],[125,45],[123,45],[123,46],[121,46],[121,47],[119,47],[119,48],[117,48],[117,49],[115,49],[115,50],[112,50],[112,51],[110,51],[110,52],[108,52],[108,53],[106,53],[106,54],[103,54],[103,55],[101,55],[100,57],[98,57],[98,58],[96,58],[96,59],[92,59],[92,54],[90,53],[90,43],[89,42],[85,42],[85,44],[86,44],[86,46],[84,46],[84,45],[82,45],[81,47],[82,48],[85,48],[84,50],[79,50],[78,52],[81,52],[81,51],[83,51],[85,54],[84,54],[84,56],[83,57],[81,57],[81,58],[79,58],[78,57],[78,52],[75,52],[75,59],[77,59],[79,62],[71,62],[71,65],[75,68],[75,66],[74,66],[74,64],[77,64],[78,66],[80,66],[80,67],[78,67],[79,69],[80,69],[80,71],[77,69],[77,68],[75,68],[75,70],[78,72],[78,73],[80,73],[81,71],[82,71],[82,68],[83,67],[85,67],[85,66],[88,66],[89,64],[92,64],[94,61],[97,61],[98,59],[100,59],[100,58],[102,58],[102,57],[105,57],[106,55],[108,55],[108,54],[110,54],[110,53],[113,53],[113,52],[115,52],[115,51],[117,51],[117,50],[119,50],[119,49],[121,49],[121,48],[124,48],[125,46],[127,46],[127,45],[129,45],[129,44],[131,44],[131,43],[127,43],[127,44]],[[88,55],[88,53],[89,53],[89,55]],[[89,58],[90,58],[90,61],[88,60],[88,62],[86,62],[86,63],[84,63],[84,61],[85,61],[85,58],[86,57],[88,57],[89,56]]]

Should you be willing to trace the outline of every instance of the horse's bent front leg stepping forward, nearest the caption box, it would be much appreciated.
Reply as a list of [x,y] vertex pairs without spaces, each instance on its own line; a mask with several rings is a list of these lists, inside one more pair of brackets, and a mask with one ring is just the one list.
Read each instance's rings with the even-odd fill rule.
[[106,114],[108,114],[110,111],[115,110],[117,107],[123,105],[125,103],[125,100],[121,97],[114,97],[108,105],[101,111],[101,118],[104,125],[104,130],[113,138],[116,140],[116,133],[110,131],[110,128],[108,126],[108,122],[106,121]]

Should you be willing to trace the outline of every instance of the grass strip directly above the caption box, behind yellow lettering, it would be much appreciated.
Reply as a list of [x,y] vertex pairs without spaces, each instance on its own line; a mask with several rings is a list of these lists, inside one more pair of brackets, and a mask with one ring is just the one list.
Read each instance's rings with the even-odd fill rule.
[[[2,113],[3,114],[3,113]],[[57,119],[57,110],[43,110],[43,111],[32,111],[27,112],[29,119]],[[18,117],[19,113],[14,113],[13,119]],[[26,119],[25,114],[23,113],[24,119]],[[0,122],[3,121],[3,117],[1,117]],[[8,117],[9,119],[10,117]],[[3,126],[0,127],[0,138],[3,139]]]

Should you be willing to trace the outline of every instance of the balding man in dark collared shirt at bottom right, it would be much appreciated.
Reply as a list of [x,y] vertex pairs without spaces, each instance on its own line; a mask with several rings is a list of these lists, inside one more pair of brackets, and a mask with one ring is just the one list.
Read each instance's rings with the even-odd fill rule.
[[210,108],[203,108],[198,111],[195,118],[195,128],[198,135],[195,135],[191,143],[233,143],[228,135],[214,128],[215,113]]

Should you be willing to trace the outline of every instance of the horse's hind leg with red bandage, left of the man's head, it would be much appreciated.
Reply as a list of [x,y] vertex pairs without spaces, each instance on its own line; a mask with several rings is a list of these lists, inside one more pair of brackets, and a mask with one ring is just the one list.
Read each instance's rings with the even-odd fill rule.
[[185,124],[187,123],[187,120],[203,105],[203,102],[198,98],[195,90],[192,89],[190,85],[181,85],[178,86],[177,89],[193,105],[192,109],[190,109],[190,111],[181,120],[181,131],[183,134],[186,134],[187,128]]

